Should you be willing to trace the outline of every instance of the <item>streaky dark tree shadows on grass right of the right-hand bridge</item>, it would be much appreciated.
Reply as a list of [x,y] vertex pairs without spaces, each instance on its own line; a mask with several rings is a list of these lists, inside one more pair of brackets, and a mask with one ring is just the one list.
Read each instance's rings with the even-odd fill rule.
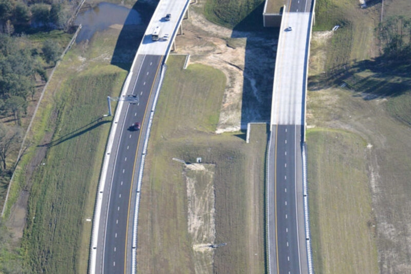
[[344,64],[308,79],[308,89],[316,91],[332,86],[352,90],[364,100],[396,97],[411,90],[411,64],[384,56],[373,60]]

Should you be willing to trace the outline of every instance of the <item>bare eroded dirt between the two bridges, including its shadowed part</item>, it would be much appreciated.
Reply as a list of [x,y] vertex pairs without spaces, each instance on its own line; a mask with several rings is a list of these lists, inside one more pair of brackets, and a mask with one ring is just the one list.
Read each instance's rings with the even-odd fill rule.
[[176,39],[176,53],[190,54],[190,63],[209,65],[226,75],[216,133],[269,121],[277,40],[270,32],[233,31],[207,21],[201,13],[204,3],[191,5],[190,18],[183,21],[184,35]]

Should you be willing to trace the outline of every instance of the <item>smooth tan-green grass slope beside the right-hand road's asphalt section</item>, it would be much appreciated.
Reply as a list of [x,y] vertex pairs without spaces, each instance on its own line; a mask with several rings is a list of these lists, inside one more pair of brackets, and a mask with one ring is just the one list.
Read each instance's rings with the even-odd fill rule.
[[366,143],[345,131],[307,133],[316,273],[377,273]]

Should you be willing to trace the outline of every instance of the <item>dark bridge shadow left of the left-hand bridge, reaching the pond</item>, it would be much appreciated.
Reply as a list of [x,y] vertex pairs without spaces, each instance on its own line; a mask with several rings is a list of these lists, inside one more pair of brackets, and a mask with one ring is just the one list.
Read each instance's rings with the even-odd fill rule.
[[136,10],[141,15],[142,24],[130,24],[130,22],[134,22],[134,15],[132,12],[128,13],[116,43],[113,58],[111,58],[112,65],[116,65],[127,71],[129,71],[133,63],[137,49],[143,39],[144,32],[148,23],[150,23],[156,6],[137,1],[132,9]]

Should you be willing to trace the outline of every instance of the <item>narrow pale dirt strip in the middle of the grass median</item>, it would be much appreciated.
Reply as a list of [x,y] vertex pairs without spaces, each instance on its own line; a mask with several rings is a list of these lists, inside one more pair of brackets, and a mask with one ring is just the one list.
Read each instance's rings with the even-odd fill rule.
[[186,165],[184,177],[188,198],[188,230],[192,237],[194,269],[213,272],[215,240],[214,165]]

